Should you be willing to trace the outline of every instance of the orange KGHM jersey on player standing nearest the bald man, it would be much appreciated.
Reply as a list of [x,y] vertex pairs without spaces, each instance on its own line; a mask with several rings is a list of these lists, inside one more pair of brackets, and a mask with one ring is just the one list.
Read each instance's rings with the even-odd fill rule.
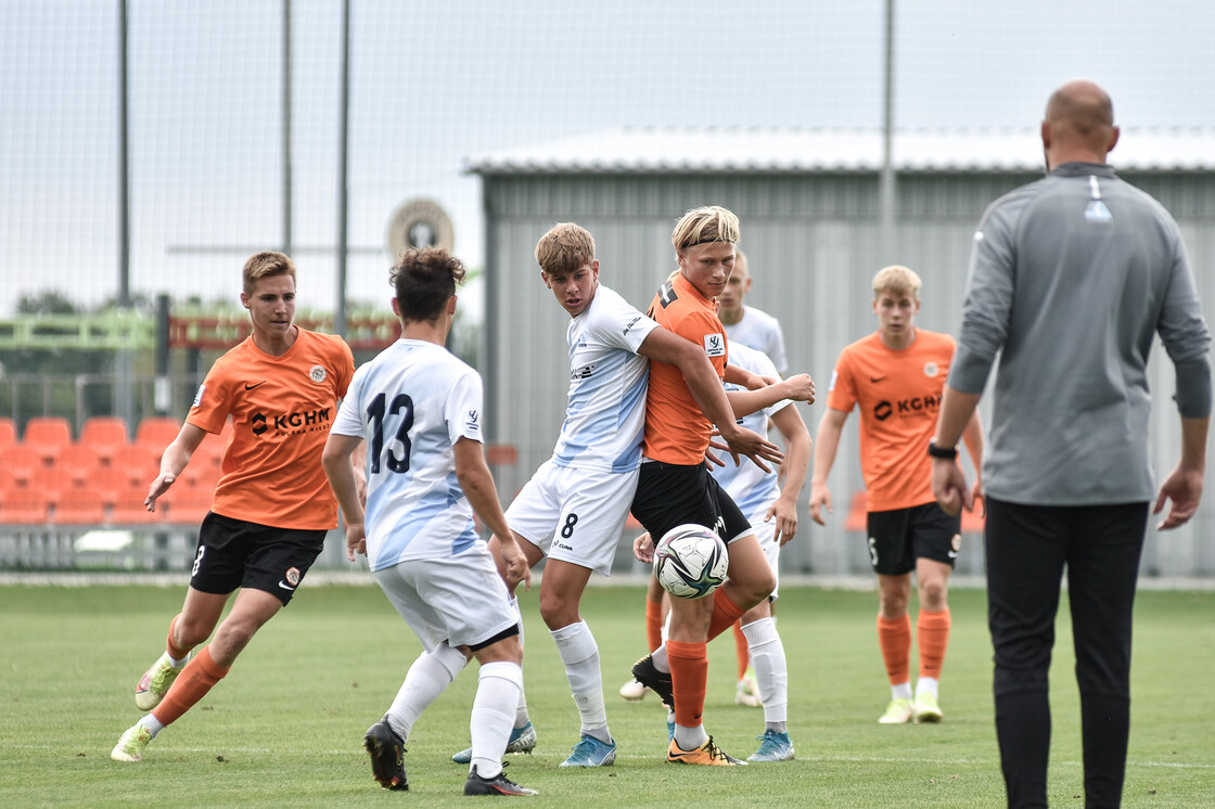
[[868,510],[932,503],[928,441],[937,429],[940,394],[954,358],[954,338],[915,330],[903,351],[875,332],[840,352],[827,407],[844,413],[860,405],[860,469]]

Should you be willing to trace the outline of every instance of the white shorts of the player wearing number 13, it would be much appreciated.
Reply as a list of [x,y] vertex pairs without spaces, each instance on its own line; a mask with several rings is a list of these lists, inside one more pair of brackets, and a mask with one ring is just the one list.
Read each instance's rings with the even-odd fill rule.
[[423,649],[476,646],[519,623],[484,542],[454,556],[407,559],[372,573]]

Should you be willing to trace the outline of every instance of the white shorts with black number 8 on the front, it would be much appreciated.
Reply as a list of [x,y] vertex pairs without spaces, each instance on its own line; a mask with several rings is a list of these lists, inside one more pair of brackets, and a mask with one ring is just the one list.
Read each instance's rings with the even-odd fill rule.
[[610,576],[637,475],[546,460],[507,509],[507,522],[549,559]]

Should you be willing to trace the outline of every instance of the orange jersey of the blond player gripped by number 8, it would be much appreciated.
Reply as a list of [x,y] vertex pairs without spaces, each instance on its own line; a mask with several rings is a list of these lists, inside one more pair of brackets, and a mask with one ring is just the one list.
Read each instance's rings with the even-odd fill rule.
[[[648,312],[685,340],[705,349],[717,375],[725,374],[725,327],[717,319],[717,302],[705,298],[682,275],[662,284]],[[713,424],[701,412],[678,366],[650,361],[645,398],[644,454],[668,464],[694,466],[705,460]]]

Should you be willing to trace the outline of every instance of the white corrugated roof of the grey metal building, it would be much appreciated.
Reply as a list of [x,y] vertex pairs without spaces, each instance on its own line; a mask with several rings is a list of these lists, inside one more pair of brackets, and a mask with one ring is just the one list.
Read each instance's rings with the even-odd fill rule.
[[[897,171],[1040,171],[1036,128],[903,129]],[[1215,129],[1123,129],[1111,152],[1126,171],[1215,169]],[[471,155],[471,174],[872,172],[882,165],[877,129],[623,126]]]

